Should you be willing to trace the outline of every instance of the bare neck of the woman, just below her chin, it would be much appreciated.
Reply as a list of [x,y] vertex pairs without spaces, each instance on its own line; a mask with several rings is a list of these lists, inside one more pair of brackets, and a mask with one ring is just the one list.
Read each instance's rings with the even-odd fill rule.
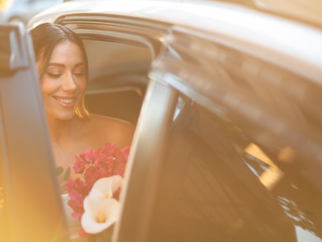
[[50,139],[53,145],[64,146],[75,138],[77,124],[81,121],[76,115],[68,120],[61,120],[47,115]]

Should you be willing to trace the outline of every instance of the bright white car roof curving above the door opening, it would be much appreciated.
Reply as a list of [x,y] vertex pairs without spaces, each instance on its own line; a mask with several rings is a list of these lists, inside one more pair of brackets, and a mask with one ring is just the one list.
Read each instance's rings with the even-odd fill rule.
[[71,1],[38,14],[29,22],[28,28],[44,22],[55,22],[67,15],[128,16],[189,27],[205,32],[205,38],[216,36],[218,39],[222,36],[226,41],[228,36],[235,39],[234,47],[246,46],[245,43],[248,43],[254,49],[265,48],[270,54],[283,53],[299,59],[313,67],[315,77],[320,76],[322,70],[322,33],[318,28],[231,3],[178,0]]

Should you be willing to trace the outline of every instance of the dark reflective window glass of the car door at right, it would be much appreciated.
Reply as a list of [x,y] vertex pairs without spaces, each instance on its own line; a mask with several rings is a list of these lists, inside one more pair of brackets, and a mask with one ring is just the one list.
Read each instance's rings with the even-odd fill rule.
[[227,117],[186,97],[171,127],[151,241],[320,241],[322,196]]

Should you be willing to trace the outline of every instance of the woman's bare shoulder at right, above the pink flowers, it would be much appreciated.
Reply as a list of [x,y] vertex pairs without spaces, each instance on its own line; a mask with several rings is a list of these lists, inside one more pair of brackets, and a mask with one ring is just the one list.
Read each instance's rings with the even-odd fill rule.
[[129,122],[118,118],[91,114],[88,124],[92,138],[98,142],[99,147],[106,142],[115,143],[119,148],[131,145],[135,127]]

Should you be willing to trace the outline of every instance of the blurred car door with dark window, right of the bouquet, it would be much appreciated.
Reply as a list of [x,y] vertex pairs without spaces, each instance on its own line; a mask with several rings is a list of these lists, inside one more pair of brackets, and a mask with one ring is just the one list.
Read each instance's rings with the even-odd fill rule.
[[320,62],[170,34],[149,72],[117,241],[320,241]]

